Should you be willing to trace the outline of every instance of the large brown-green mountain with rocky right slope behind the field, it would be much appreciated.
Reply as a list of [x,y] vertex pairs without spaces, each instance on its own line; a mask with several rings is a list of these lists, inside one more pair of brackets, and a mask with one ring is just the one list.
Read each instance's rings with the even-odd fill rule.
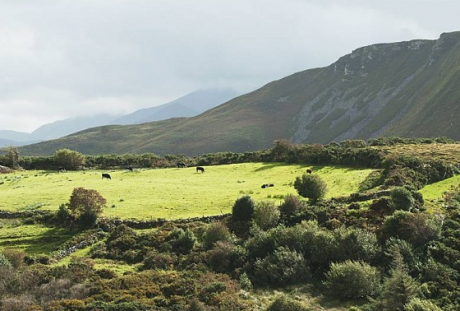
[[460,32],[374,44],[324,68],[273,81],[192,118],[113,125],[22,148],[50,154],[243,152],[276,139],[329,143],[379,136],[460,140]]

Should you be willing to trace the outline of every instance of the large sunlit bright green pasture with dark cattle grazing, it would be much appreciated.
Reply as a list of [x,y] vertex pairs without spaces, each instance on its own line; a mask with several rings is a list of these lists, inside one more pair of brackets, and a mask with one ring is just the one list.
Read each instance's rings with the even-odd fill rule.
[[[96,189],[107,199],[104,216],[156,219],[216,215],[231,211],[235,200],[250,195],[254,200],[279,204],[286,194],[296,194],[292,184],[305,165],[244,163],[195,168],[104,171],[23,171],[0,177],[1,210],[57,210],[69,201],[77,187]],[[328,185],[326,197],[349,195],[372,172],[371,169],[313,167]],[[275,186],[262,189],[261,185]]]

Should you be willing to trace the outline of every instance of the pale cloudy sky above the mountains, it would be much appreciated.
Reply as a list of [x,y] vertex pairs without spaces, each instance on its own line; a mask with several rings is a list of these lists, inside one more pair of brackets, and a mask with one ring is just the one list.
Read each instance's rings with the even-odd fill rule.
[[245,93],[460,30],[458,0],[0,0],[0,130]]

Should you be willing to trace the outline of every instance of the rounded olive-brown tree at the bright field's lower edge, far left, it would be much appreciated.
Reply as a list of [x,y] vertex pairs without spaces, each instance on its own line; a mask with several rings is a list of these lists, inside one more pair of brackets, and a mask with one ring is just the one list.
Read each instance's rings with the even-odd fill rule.
[[83,227],[91,227],[102,213],[107,200],[97,190],[74,188],[67,204],[74,219]]

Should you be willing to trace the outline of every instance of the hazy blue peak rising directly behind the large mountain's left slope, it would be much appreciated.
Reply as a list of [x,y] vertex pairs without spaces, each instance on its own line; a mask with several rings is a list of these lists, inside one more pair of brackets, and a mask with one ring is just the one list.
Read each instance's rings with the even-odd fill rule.
[[238,93],[232,89],[201,89],[167,104],[135,111],[112,121],[111,124],[140,124],[177,117],[193,117],[237,95]]

